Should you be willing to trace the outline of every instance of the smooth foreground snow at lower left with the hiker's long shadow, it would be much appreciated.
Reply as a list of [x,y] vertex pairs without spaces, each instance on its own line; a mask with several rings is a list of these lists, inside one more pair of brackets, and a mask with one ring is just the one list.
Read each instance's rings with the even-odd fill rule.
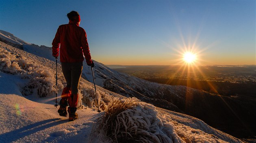
[[[59,116],[52,104],[38,103],[23,97],[22,79],[0,72],[0,141],[9,142],[87,142],[94,109],[79,109],[79,120],[69,122]],[[40,98],[42,101],[43,98]]]

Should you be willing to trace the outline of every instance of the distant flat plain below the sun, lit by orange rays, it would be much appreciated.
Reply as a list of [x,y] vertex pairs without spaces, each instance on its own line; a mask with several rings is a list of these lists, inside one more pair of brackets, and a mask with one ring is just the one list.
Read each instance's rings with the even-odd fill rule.
[[183,85],[223,96],[256,98],[256,65],[108,65],[151,82]]

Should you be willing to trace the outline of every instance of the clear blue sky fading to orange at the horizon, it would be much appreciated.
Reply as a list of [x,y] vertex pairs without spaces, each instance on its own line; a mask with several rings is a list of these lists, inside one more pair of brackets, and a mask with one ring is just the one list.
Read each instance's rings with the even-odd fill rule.
[[254,0],[1,0],[0,29],[51,46],[78,11],[92,58],[119,65],[256,64]]

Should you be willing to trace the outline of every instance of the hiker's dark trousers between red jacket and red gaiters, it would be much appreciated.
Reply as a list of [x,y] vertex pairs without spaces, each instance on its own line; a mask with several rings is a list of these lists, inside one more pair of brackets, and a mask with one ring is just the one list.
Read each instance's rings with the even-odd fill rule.
[[82,75],[82,62],[61,63],[61,67],[67,87],[71,88],[72,94],[78,94],[78,85]]

